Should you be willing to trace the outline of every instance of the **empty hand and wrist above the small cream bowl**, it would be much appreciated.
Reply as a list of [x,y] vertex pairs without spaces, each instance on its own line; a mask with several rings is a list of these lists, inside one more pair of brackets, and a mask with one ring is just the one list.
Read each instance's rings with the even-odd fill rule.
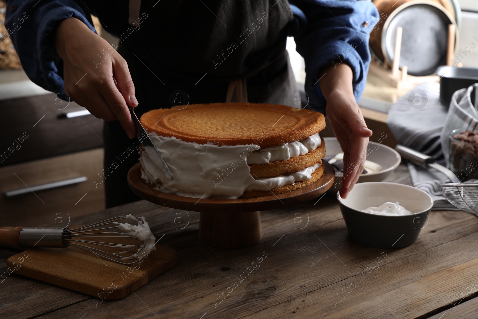
[[367,158],[372,131],[367,128],[352,90],[352,70],[342,63],[322,69],[319,85],[327,100],[327,118],[344,152],[340,197],[346,198],[359,179]]

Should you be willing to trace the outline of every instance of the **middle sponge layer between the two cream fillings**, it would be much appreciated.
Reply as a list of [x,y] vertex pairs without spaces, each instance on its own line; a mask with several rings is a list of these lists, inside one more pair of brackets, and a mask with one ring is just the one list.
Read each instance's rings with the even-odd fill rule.
[[254,178],[277,176],[285,172],[298,172],[306,167],[312,166],[324,158],[326,145],[322,143],[314,151],[285,161],[276,161],[269,164],[249,165],[250,174]]

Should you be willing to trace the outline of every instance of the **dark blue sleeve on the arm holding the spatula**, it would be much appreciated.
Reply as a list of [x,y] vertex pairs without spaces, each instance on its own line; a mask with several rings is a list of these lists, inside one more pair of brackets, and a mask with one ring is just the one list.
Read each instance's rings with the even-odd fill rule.
[[89,14],[73,0],[8,0],[5,27],[28,77],[40,87],[65,96],[63,61],[54,49],[54,31],[61,21],[76,18],[91,31]]

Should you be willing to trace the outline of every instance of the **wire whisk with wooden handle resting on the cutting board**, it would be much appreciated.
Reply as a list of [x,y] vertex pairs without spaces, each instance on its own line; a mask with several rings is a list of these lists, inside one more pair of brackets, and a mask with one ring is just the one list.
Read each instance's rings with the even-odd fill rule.
[[[68,228],[0,228],[0,246],[22,249],[25,247],[69,246],[85,249],[120,264],[133,264],[141,255],[146,242],[122,231],[120,220],[141,220],[133,216],[120,216],[76,229]],[[143,219],[144,220],[144,219]],[[139,222],[139,221],[138,221]]]

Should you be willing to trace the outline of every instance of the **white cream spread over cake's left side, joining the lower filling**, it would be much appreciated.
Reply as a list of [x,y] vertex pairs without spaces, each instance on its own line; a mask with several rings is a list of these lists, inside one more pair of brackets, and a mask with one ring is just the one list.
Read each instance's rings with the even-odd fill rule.
[[256,180],[250,174],[247,158],[259,150],[259,145],[218,146],[188,143],[155,132],[148,135],[168,164],[174,179],[167,179],[154,164],[159,162],[159,156],[151,146],[146,146],[141,152],[141,177],[150,183],[163,184],[158,188],[163,192],[181,196],[239,198],[245,190],[265,191],[308,180],[320,166],[316,164],[300,172]]

